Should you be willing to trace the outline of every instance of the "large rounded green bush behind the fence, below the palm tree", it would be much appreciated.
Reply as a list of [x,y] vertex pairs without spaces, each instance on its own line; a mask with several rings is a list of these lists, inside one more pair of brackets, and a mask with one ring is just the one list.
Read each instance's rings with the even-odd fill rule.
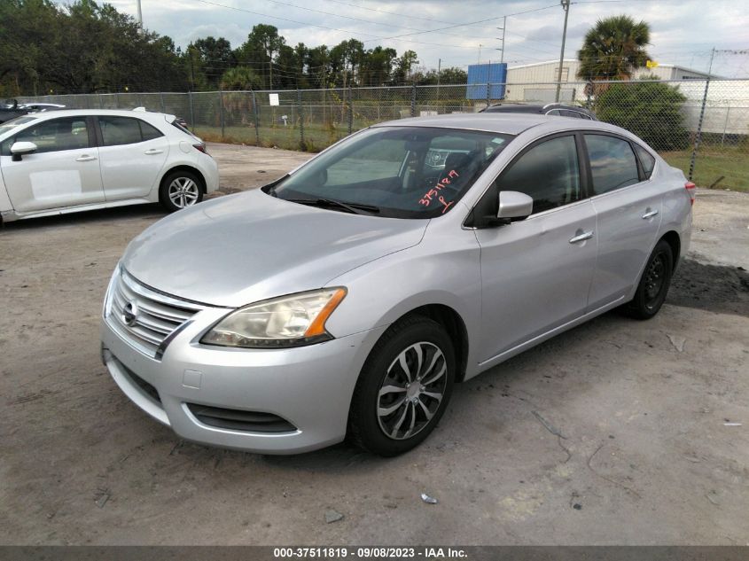
[[596,97],[596,115],[636,134],[660,151],[683,150],[689,144],[678,87],[659,82],[612,84]]

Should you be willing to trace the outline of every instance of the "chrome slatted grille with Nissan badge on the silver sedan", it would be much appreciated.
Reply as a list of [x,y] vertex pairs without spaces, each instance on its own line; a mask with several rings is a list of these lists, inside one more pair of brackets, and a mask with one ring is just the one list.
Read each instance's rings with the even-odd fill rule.
[[111,299],[109,324],[131,346],[152,358],[160,358],[164,339],[205,308],[155,292],[124,270],[113,283]]

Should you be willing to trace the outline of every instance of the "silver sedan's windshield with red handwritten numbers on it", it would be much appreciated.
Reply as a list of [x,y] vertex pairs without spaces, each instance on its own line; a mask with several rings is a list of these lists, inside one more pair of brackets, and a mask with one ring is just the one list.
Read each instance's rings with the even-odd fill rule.
[[448,213],[510,142],[491,132],[377,127],[342,142],[264,191],[395,218]]

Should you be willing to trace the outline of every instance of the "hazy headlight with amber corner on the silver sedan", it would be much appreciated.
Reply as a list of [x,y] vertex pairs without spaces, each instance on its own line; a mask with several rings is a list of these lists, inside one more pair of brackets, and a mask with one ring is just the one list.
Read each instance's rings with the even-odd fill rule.
[[299,347],[332,339],[325,321],[345,288],[300,292],[239,308],[208,331],[201,343],[222,347]]

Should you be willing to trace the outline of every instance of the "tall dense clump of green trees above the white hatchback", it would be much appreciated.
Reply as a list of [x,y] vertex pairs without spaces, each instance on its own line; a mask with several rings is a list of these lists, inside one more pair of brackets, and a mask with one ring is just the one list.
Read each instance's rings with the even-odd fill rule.
[[174,43],[134,19],[80,0],[0,2],[0,90],[24,93],[183,90]]

